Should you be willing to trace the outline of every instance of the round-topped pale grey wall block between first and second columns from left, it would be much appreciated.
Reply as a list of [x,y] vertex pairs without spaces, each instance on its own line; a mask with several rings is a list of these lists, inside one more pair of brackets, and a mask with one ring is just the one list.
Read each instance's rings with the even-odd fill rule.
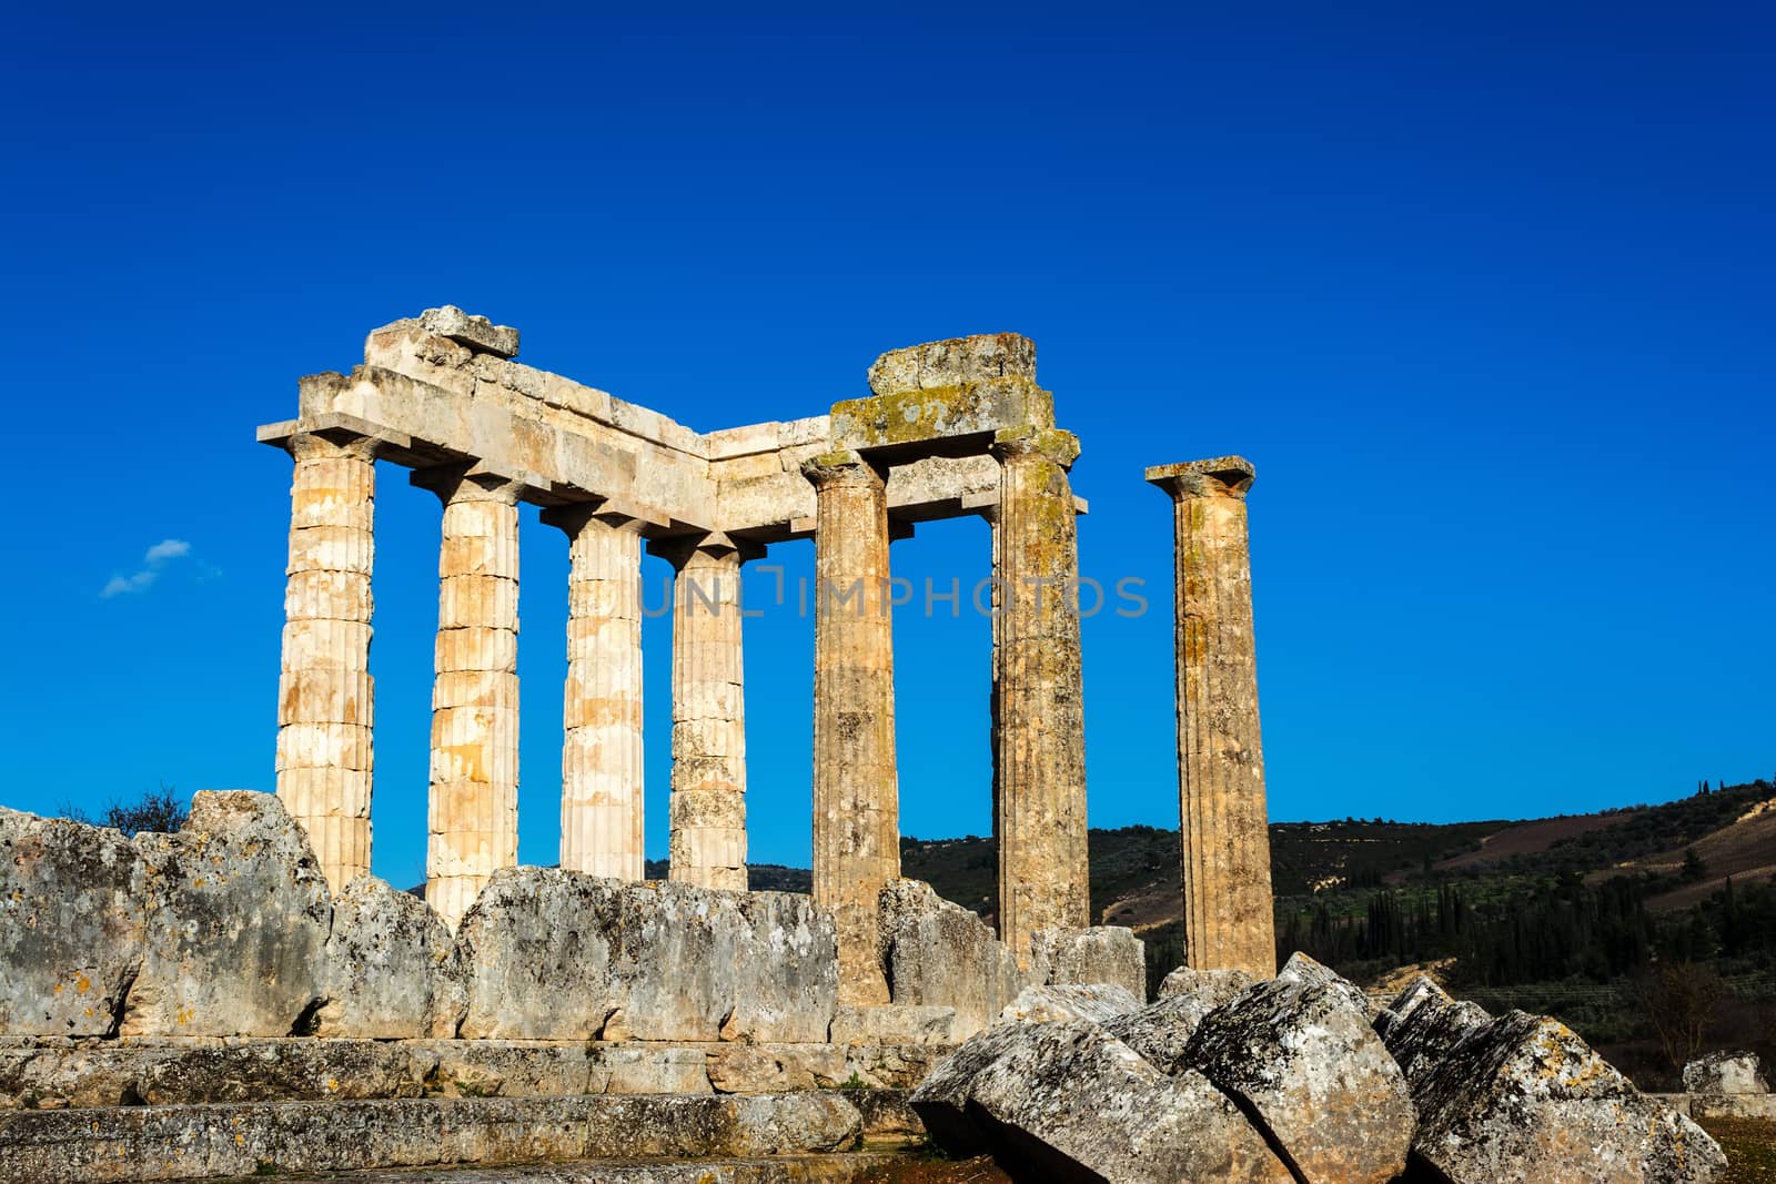
[[464,982],[451,932],[426,902],[361,875],[334,898],[327,1001],[316,1035],[453,1037]]

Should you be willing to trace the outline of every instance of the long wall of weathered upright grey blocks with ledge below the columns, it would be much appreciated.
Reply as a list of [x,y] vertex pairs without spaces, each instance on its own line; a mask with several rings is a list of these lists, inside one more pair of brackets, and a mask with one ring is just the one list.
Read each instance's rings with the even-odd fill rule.
[[453,934],[375,877],[329,893],[268,793],[135,840],[0,809],[0,1106],[906,1086],[1025,985],[1138,991],[1128,930],[1021,971],[924,884],[883,900],[893,1003],[842,1006],[833,920],[796,893],[506,868]]

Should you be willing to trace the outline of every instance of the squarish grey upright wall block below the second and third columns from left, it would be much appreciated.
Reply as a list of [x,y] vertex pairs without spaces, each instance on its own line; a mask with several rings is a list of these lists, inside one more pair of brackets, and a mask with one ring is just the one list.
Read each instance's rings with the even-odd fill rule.
[[464,1038],[593,1040],[622,1006],[613,932],[616,880],[559,868],[501,868],[456,932],[467,989]]

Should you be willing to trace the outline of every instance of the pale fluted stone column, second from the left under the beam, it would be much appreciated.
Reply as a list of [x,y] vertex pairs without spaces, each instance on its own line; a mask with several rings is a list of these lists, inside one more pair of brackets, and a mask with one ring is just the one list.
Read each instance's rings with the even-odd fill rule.
[[416,474],[444,501],[426,902],[451,928],[519,863],[519,486]]

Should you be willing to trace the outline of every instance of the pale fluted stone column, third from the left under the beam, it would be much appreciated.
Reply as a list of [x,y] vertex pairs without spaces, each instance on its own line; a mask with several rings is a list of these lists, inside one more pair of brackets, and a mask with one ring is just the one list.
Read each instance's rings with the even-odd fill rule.
[[595,506],[543,513],[568,536],[561,866],[645,879],[641,534]]

